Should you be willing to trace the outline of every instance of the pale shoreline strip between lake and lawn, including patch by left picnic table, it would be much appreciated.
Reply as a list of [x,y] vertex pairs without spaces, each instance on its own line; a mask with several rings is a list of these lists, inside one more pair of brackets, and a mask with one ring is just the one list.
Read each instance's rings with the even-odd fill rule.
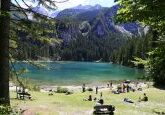
[[[121,85],[124,81],[126,80],[108,80],[108,81],[103,81],[103,82],[97,82],[97,83],[86,83],[85,86],[86,86],[86,89],[88,88],[92,88],[93,90],[98,87],[99,89],[110,89],[108,86],[108,84],[110,84],[112,82],[113,84],[113,87],[117,87],[118,85]],[[35,83],[37,81],[33,81],[33,83]],[[130,80],[130,84],[131,85],[135,85],[135,84],[146,84],[146,85],[149,85],[149,86],[152,86],[153,85],[153,82],[152,81],[145,81],[145,80]],[[68,84],[68,85],[64,85],[64,84],[61,84],[61,85],[53,85],[52,83],[48,84],[44,84],[44,83],[41,83],[41,84],[37,84],[36,85],[39,87],[40,89],[40,92],[48,92],[49,90],[53,90],[53,91],[56,91],[57,90],[57,87],[60,87],[60,88],[67,88],[68,90],[71,90],[71,91],[81,91],[82,90],[82,85],[80,84]],[[19,87],[18,85],[15,85],[12,81],[10,81],[10,90],[11,91],[14,91],[16,89],[16,86]]]

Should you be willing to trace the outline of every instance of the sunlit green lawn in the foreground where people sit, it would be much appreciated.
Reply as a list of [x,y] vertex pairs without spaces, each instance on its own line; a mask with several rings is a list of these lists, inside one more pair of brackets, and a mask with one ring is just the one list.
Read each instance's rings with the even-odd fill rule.
[[[130,92],[124,94],[112,94],[110,91],[102,91],[105,104],[112,104],[116,107],[115,115],[157,115],[165,112],[165,90],[149,88],[143,92]],[[143,93],[146,93],[148,102],[137,102]],[[47,93],[30,92],[33,100],[15,99],[15,92],[11,92],[11,105],[17,108],[27,109],[35,115],[91,115],[95,102],[83,101],[91,94],[99,98],[95,92],[76,92],[72,95],[54,93],[48,96]],[[131,98],[135,103],[124,103],[122,100]]]

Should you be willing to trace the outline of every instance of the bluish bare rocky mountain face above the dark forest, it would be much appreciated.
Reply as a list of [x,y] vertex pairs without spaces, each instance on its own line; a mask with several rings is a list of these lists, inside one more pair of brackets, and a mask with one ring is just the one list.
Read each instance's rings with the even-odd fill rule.
[[139,36],[141,27],[137,23],[115,24],[114,18],[119,8],[119,5],[111,8],[79,5],[76,8],[65,9],[56,17],[61,21],[58,26],[63,25],[63,28],[58,29],[59,37],[68,42],[78,34],[92,34],[98,38]]

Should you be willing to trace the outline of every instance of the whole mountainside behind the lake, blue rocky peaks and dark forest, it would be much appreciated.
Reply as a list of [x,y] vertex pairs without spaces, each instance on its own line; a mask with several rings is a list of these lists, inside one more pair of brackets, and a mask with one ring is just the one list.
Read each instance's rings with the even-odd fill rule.
[[[148,46],[146,45],[145,50],[141,47],[144,46],[144,41],[147,42],[145,40],[147,31],[138,23],[116,24],[115,16],[119,8],[119,5],[111,8],[98,4],[78,5],[50,14],[42,7],[34,7],[35,12],[55,18],[55,25],[42,26],[43,32],[46,32],[49,26],[54,27],[53,36],[49,32],[43,35],[59,38],[63,42],[56,45],[37,45],[38,41],[30,41],[30,45],[34,47],[21,46],[25,47],[25,50],[28,49],[25,57],[35,60],[37,57],[46,57],[51,60],[72,61],[102,59],[102,61],[130,65],[133,56],[145,57]],[[21,36],[26,42],[25,38],[26,36]],[[36,51],[36,45],[41,47],[40,51]]]

